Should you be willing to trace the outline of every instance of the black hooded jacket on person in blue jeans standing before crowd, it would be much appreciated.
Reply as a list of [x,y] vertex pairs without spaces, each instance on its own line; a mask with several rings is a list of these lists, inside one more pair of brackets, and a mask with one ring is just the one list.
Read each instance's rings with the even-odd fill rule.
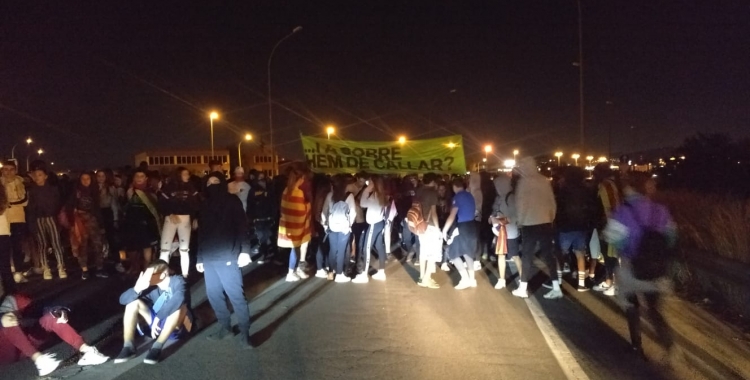
[[221,173],[211,173],[220,183],[205,189],[206,200],[198,216],[198,263],[236,263],[240,253],[250,252],[247,217],[242,202],[227,191]]

